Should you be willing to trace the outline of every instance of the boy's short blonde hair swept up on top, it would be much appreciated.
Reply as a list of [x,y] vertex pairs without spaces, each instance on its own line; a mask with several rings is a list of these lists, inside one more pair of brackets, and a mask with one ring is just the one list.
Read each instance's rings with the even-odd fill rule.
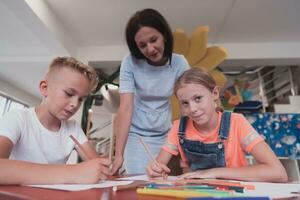
[[65,56],[54,58],[51,64],[49,65],[47,75],[50,72],[61,69],[63,67],[72,69],[74,71],[79,72],[80,74],[83,74],[90,81],[90,84],[92,86],[91,91],[94,91],[96,89],[99,82],[96,70],[93,67],[86,65],[73,57]]

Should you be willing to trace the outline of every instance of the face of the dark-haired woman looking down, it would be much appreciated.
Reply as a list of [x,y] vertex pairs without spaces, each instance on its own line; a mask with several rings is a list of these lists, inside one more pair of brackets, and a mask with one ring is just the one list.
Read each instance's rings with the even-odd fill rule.
[[165,43],[163,35],[154,28],[144,26],[135,34],[135,42],[140,52],[153,65],[162,65],[165,62]]

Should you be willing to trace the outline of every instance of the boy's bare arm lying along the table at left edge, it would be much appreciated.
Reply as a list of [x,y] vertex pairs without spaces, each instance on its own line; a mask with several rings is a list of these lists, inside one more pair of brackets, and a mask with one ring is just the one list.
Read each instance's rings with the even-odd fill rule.
[[0,136],[0,184],[96,183],[108,174],[107,159],[76,165],[35,164],[9,160],[13,143]]

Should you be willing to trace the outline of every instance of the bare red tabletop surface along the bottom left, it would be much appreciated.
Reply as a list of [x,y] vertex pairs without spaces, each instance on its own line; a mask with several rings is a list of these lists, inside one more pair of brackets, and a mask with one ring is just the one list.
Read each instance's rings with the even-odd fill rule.
[[[137,195],[136,189],[127,189],[113,192],[111,188],[89,189],[76,192],[41,189],[26,186],[0,185],[1,200],[170,200],[174,197],[157,197]],[[179,198],[176,198],[179,199]]]

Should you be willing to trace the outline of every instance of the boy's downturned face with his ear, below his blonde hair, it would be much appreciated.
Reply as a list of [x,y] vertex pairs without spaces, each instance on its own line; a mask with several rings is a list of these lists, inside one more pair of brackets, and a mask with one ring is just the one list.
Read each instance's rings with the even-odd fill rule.
[[76,113],[91,90],[89,80],[77,71],[62,68],[50,72],[40,84],[43,100],[49,114],[67,120]]

